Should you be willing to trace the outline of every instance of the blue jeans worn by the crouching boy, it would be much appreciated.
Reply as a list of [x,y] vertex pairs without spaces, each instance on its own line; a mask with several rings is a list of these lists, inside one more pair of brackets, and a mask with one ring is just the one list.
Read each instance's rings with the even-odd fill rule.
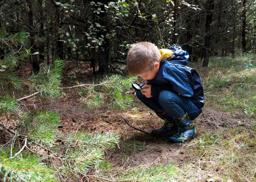
[[[140,91],[136,91],[136,95],[142,103],[153,110],[157,116],[165,121],[173,121],[173,119],[181,118],[186,113],[191,120],[194,120],[202,112],[201,108],[198,108],[189,98],[180,96],[174,92],[163,90],[159,96],[153,96],[146,98]],[[162,116],[162,111],[168,113]],[[162,117],[161,117],[162,116]]]

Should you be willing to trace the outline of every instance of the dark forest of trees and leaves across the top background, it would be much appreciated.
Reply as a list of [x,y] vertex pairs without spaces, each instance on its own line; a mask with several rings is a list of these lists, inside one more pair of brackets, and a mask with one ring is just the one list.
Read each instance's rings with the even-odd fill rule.
[[255,53],[255,8],[255,0],[2,0],[0,27],[29,33],[34,71],[61,58],[111,72],[139,41],[180,45],[208,66],[210,56]]

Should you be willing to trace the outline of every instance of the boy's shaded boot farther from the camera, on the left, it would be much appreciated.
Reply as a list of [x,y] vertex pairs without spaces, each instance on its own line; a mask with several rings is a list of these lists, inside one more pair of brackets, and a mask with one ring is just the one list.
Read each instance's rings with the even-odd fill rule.
[[169,123],[166,121],[164,125],[159,129],[153,129],[151,131],[151,134],[157,135],[157,136],[171,136],[177,132],[177,127],[174,123]]

